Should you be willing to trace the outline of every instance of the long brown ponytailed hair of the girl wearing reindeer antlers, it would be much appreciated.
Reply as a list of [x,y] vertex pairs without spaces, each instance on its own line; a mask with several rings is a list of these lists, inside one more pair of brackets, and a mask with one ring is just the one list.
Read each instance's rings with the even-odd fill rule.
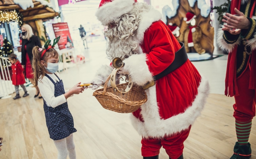
[[34,80],[35,80],[34,87],[38,85],[38,80],[41,81],[45,76],[46,69],[45,69],[45,66],[41,64],[41,61],[43,60],[46,62],[52,56],[55,58],[59,57],[58,52],[54,48],[50,48],[49,50],[46,51],[43,58],[41,58],[41,55],[44,52],[45,48],[41,52],[38,49],[39,47],[35,46],[32,50],[32,53],[33,53],[32,66],[34,69]]

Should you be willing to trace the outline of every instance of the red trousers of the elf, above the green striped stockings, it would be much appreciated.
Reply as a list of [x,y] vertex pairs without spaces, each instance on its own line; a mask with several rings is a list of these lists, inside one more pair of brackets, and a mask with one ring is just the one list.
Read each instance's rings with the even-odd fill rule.
[[238,122],[247,122],[255,117],[256,90],[249,89],[250,66],[237,79],[238,96],[235,97],[234,117]]

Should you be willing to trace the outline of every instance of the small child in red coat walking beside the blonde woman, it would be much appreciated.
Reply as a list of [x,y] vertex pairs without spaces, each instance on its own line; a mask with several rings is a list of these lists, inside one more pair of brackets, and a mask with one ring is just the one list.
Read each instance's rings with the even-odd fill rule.
[[16,92],[16,96],[13,98],[15,99],[19,99],[20,97],[20,93],[19,93],[19,85],[23,88],[25,94],[23,95],[23,97],[28,96],[28,91],[24,85],[24,83],[26,83],[25,81],[25,77],[23,75],[23,68],[21,66],[20,61],[17,59],[17,56],[12,53],[9,56],[9,60],[12,63],[12,84],[15,86],[15,92]]

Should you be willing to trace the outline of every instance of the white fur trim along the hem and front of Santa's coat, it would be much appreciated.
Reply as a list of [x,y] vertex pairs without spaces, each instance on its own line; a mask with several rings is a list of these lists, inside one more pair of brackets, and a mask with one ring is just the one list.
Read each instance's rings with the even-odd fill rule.
[[141,114],[144,122],[131,115],[133,127],[140,135],[145,138],[163,138],[165,135],[172,135],[187,130],[201,115],[201,111],[209,95],[209,83],[205,78],[201,78],[196,95],[192,105],[184,113],[163,120],[159,116],[158,103],[156,99],[156,85],[145,90],[148,101],[141,106]]

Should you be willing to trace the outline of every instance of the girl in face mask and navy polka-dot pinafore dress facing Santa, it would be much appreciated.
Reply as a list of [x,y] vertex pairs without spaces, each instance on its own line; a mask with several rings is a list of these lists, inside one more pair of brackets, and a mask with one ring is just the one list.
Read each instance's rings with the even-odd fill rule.
[[50,138],[58,149],[58,159],[75,159],[75,145],[73,142],[74,128],[73,117],[68,110],[66,99],[73,94],[84,91],[80,83],[69,91],[64,90],[62,80],[57,73],[59,68],[59,54],[52,47],[44,49],[33,48],[33,68],[35,87],[39,87],[44,99],[46,125]]

